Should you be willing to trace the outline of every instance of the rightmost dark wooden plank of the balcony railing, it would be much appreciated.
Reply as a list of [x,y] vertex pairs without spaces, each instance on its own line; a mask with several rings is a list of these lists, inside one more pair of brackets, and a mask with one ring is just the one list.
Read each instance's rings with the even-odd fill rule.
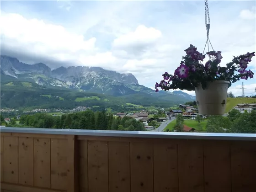
[[255,192],[256,142],[234,141],[231,145],[232,192]]

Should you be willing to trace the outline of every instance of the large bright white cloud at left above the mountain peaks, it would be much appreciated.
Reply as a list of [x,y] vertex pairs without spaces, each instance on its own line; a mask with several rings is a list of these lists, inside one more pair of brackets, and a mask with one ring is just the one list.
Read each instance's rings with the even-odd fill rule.
[[60,25],[37,19],[26,19],[19,14],[0,16],[2,45],[54,59],[71,59],[78,51],[95,49],[96,38],[85,40],[83,35],[68,32]]

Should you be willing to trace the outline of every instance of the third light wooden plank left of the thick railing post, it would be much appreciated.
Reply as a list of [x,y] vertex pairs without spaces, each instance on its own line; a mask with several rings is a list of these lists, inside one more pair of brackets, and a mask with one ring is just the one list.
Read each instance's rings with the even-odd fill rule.
[[34,185],[34,138],[19,137],[19,184]]

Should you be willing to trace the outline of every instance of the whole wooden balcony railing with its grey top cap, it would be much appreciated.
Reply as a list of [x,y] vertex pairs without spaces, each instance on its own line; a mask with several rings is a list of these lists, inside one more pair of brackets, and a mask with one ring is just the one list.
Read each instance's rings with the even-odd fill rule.
[[256,135],[1,128],[0,192],[256,192]]

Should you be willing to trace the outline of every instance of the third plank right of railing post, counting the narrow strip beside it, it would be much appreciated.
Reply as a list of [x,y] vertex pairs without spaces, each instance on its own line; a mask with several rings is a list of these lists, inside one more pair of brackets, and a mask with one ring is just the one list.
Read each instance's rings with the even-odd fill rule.
[[109,192],[130,192],[130,144],[108,142]]

